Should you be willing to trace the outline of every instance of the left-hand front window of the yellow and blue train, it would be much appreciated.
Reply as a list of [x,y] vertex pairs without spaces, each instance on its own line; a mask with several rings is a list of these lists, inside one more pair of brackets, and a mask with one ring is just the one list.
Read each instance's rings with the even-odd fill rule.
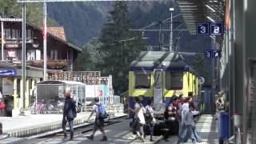
[[150,88],[150,72],[135,71],[135,89]]

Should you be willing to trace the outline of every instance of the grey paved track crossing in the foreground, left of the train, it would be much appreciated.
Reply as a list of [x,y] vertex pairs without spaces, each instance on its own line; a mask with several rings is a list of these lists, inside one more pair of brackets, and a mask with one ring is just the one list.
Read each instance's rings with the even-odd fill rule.
[[[102,138],[102,133],[100,131],[97,131],[94,135],[94,141],[91,141],[90,139],[87,139],[86,136],[89,136],[92,132],[87,132],[85,134],[79,134],[76,135],[76,131],[74,131],[74,141],[68,141],[67,139],[63,139],[63,135],[59,134],[51,138],[32,138],[32,139],[26,139],[26,138],[6,138],[0,141],[0,144],[7,144],[7,143],[18,143],[18,144],[61,144],[61,143],[74,143],[74,144],[140,144],[142,142],[139,142],[137,139],[134,140],[134,136],[130,134],[130,128],[129,128],[129,122],[130,119],[123,119],[122,122],[114,123],[113,125],[106,126],[105,132],[108,138],[107,142],[101,142],[100,139]],[[78,133],[78,132],[77,132]],[[70,134],[68,133],[68,138],[70,137]],[[145,144],[153,144],[155,142],[158,142],[161,137],[154,137],[154,142],[150,142],[150,137],[146,136],[146,142]]]

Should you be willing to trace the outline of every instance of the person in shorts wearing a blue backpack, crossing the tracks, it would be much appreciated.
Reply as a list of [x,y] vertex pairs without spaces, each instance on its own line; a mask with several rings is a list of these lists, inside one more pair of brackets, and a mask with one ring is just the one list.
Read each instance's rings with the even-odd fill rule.
[[91,134],[90,136],[86,136],[86,138],[90,139],[90,140],[94,140],[94,134],[96,132],[96,130],[100,130],[103,134],[103,138],[101,139],[101,141],[107,141],[106,138],[106,133],[103,129],[104,126],[104,119],[106,118],[106,111],[105,111],[105,107],[102,106],[99,103],[99,98],[96,97],[94,98],[94,106],[93,106],[93,111],[90,113],[90,116],[88,118],[87,121],[89,121],[90,117],[96,113],[96,117],[95,117],[95,122],[94,122],[94,128],[93,128],[93,134]]

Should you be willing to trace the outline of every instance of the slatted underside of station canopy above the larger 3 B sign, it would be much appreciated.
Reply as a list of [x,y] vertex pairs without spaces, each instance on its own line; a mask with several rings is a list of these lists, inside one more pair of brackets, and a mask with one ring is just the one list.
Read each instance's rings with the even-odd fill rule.
[[190,34],[196,22],[224,22],[225,0],[176,0]]

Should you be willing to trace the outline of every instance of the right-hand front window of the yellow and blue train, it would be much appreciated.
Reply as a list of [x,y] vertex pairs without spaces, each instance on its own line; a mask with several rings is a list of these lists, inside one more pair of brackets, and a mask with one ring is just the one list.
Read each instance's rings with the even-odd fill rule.
[[182,90],[182,71],[166,71],[166,90]]

